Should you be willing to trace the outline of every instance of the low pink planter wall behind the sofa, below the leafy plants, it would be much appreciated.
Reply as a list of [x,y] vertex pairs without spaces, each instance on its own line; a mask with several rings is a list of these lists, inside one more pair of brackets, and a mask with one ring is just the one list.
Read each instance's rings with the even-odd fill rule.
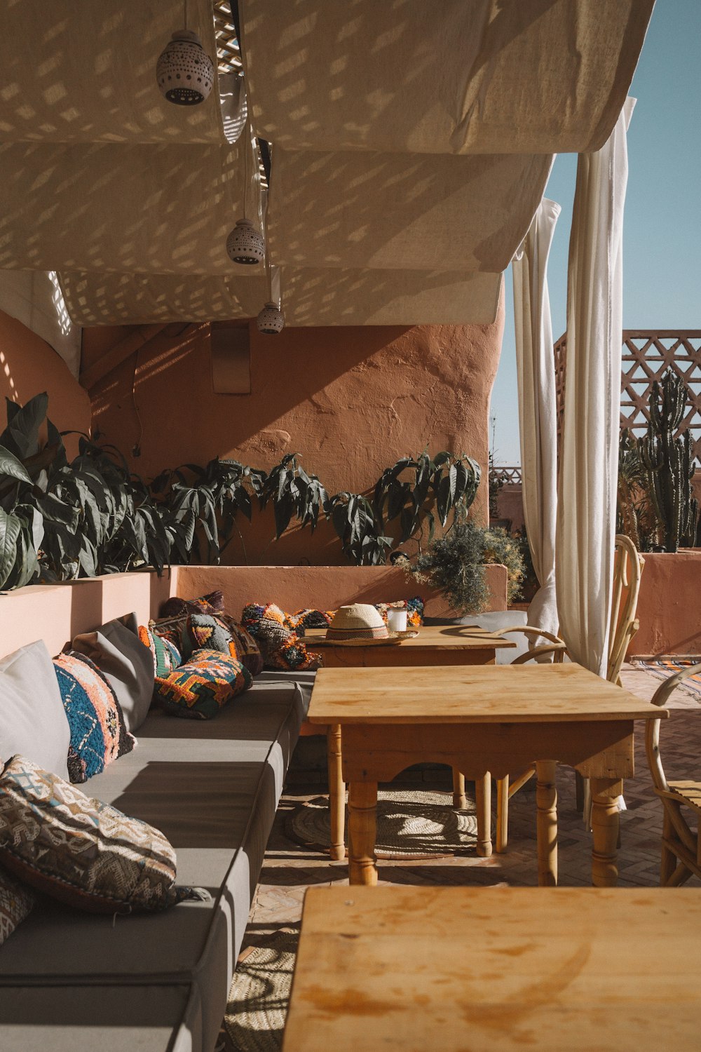
[[[507,608],[507,568],[484,567],[490,610]],[[283,609],[334,609],[343,603],[380,603],[420,594],[428,616],[452,616],[434,589],[414,584],[389,566],[173,566],[110,573],[55,585],[29,585],[0,594],[0,658],[44,640],[58,653],[78,632],[136,610],[142,623],[157,616],[170,595],[193,596],[221,589],[235,616],[247,603],[276,603]]]

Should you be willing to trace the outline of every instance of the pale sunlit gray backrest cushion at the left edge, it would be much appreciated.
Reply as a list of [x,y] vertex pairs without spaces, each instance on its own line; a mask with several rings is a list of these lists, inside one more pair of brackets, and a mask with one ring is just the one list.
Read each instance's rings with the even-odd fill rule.
[[43,640],[0,661],[0,760],[19,752],[68,781],[70,728]]

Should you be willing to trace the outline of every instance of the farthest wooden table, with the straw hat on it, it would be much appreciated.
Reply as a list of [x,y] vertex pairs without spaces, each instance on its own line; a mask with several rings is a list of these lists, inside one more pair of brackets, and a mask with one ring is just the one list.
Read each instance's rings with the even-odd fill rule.
[[[513,640],[484,631],[477,625],[451,625],[434,627],[425,625],[417,634],[401,643],[370,646],[319,645],[326,636],[325,628],[307,629],[305,643],[313,650],[314,644],[324,655],[325,668],[407,668],[416,665],[493,665],[496,651],[514,648]],[[318,727],[303,724],[303,734],[318,734]],[[331,815],[332,859],[346,857],[346,785],[342,774],[343,734],[339,724],[326,728],[327,766],[329,772],[329,809]],[[475,786],[477,805],[477,853],[482,857],[492,854],[492,781],[489,774]],[[453,768],[453,806],[467,807],[465,773]]]

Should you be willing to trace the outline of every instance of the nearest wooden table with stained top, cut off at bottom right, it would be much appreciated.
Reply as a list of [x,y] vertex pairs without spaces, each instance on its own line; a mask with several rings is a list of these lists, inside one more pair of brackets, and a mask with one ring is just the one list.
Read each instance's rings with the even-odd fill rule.
[[311,888],[283,1050],[697,1052],[700,942],[696,888]]

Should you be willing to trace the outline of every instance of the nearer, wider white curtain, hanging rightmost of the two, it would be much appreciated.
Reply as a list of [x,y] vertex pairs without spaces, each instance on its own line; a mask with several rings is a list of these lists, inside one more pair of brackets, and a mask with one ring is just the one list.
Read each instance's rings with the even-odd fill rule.
[[627,99],[607,142],[577,166],[568,272],[557,606],[574,661],[605,676],[616,532]]

